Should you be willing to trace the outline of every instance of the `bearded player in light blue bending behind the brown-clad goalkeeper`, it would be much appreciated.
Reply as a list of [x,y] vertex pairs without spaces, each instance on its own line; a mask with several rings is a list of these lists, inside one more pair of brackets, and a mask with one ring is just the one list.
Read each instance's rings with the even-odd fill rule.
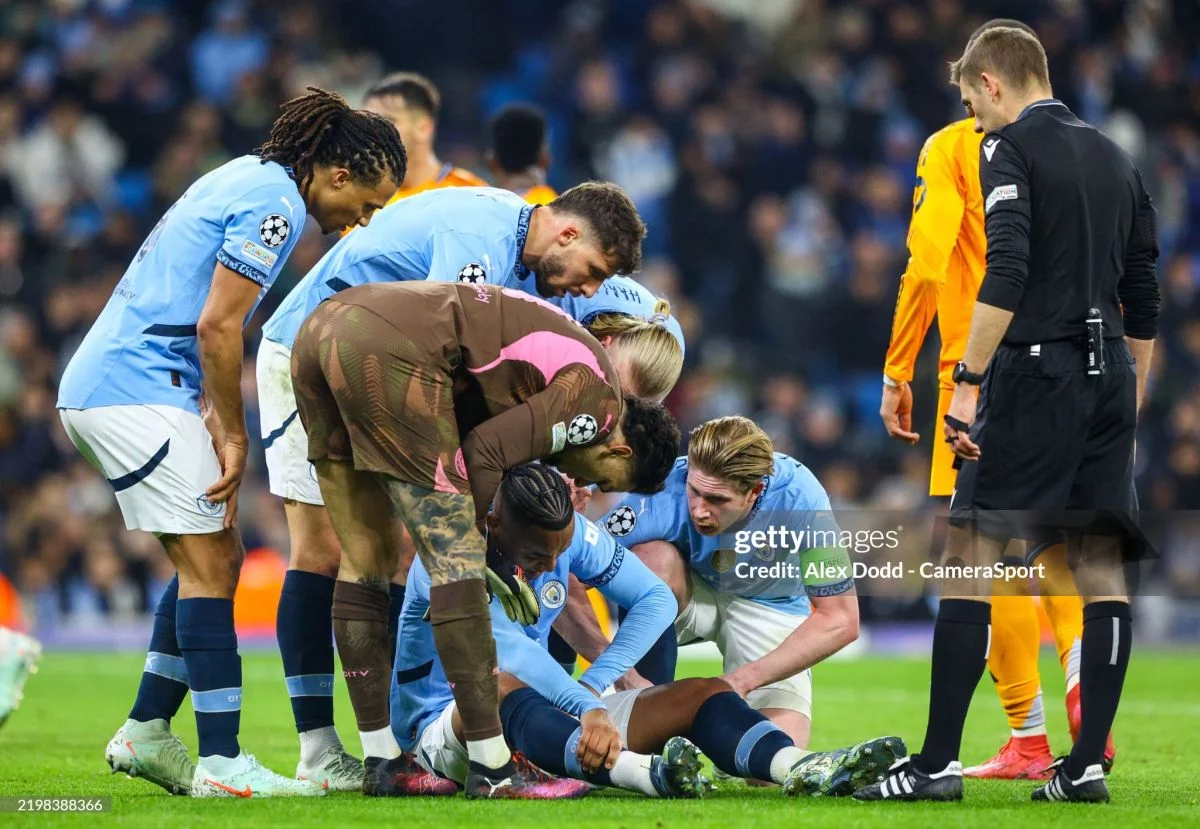
[[[613,185],[584,184],[536,209],[491,188],[426,193],[391,205],[372,217],[370,227],[341,240],[268,320],[257,372],[270,488],[284,499],[292,542],[276,631],[300,733],[298,774],[334,791],[362,786],[361,763],[346,753],[334,729],[329,614],[341,548],[308,462],[307,435],[296,419],[292,346],[300,324],[338,290],[368,282],[430,278],[504,284],[536,269],[539,278],[530,284],[547,296],[593,293],[605,275],[637,268],[644,233],[634,204]],[[618,368],[630,365],[630,353],[644,354],[656,366],[664,364],[658,355],[674,343],[656,334],[658,328],[641,323],[614,336],[610,347],[622,349]],[[636,346],[637,352],[626,346]],[[401,540],[400,584],[390,589],[392,635],[403,603],[403,577],[412,563],[412,545],[406,541]],[[424,788],[436,783],[425,781]]]

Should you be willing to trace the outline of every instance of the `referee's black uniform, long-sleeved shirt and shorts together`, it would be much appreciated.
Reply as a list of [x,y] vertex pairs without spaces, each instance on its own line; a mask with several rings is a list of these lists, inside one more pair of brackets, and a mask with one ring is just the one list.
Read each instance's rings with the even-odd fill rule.
[[[1128,510],[1136,374],[1123,337],[1157,332],[1154,206],[1124,152],[1055,100],[985,136],[979,167],[979,301],[1013,320],[980,386],[980,457],[961,465],[950,521],[1021,537],[1031,513],[1044,525],[1068,510]],[[1088,373],[1090,310],[1103,319],[1103,373]]]

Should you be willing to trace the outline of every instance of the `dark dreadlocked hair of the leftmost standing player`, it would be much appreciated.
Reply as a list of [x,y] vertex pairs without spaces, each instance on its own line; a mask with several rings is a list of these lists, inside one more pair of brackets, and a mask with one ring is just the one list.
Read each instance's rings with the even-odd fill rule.
[[341,95],[308,86],[292,98],[271,125],[266,143],[254,150],[263,160],[290,167],[301,193],[314,167],[344,167],[356,180],[378,184],[390,174],[396,184],[408,172],[408,154],[391,121],[365,109],[352,109]]

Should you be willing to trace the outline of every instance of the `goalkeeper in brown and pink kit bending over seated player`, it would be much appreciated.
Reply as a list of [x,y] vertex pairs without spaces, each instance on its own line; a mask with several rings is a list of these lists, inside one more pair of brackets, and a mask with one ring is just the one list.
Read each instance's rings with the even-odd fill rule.
[[500,735],[475,527],[503,474],[538,458],[604,491],[656,491],[678,446],[674,422],[661,406],[623,394],[582,326],[494,286],[344,290],[305,322],[292,366],[308,457],[342,549],[334,636],[367,755],[364,791],[401,793],[394,775],[404,762],[380,681],[391,661],[394,509],[430,572],[438,653],[468,753],[492,786],[468,781],[468,793],[508,797],[529,780]]

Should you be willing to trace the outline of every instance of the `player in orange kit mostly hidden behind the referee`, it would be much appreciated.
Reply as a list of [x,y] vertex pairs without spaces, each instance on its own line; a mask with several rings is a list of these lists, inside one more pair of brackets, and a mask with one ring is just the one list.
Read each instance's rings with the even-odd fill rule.
[[[997,26],[1033,30],[1019,20],[995,19],[972,36]],[[954,394],[952,374],[966,348],[971,310],[986,268],[986,236],[979,185],[979,145],[983,134],[974,119],[966,118],[935,132],[917,161],[912,222],[908,226],[908,266],[900,281],[892,343],[883,368],[883,401],[880,416],[888,434],[916,444],[912,431],[910,383],[917,354],[934,316],[942,340],[938,355],[937,420],[949,410]],[[941,429],[935,428],[935,434]],[[934,440],[929,494],[954,493],[954,452],[940,438]],[[1024,545],[1009,546],[1007,554],[1021,557]],[[1082,603],[1061,546],[1034,548],[1046,567],[1042,581],[1042,606],[1050,619],[1055,645],[1067,674],[1067,717],[1072,739],[1079,731],[1079,647],[1082,636]],[[971,777],[1000,780],[1049,780],[1054,756],[1046,739],[1045,709],[1038,674],[1039,623],[1033,599],[1016,582],[995,584],[991,611],[991,650],[988,668],[1008,716],[1012,737],[988,762],[964,771]],[[1115,755],[1111,738],[1105,765]]]

